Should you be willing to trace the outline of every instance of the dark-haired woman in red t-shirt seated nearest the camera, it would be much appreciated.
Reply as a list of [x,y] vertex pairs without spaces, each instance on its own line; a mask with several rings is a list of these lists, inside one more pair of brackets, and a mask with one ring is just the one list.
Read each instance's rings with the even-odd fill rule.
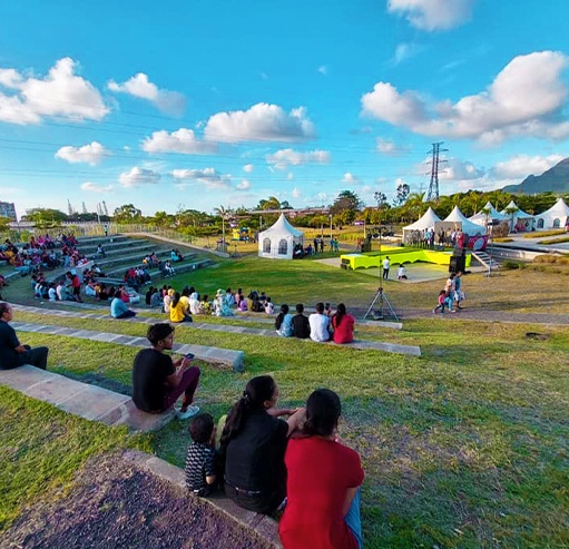
[[287,503],[278,525],[285,549],[362,547],[360,457],[340,441],[340,398],[314,391],[306,403],[301,434],[288,442],[285,464]]

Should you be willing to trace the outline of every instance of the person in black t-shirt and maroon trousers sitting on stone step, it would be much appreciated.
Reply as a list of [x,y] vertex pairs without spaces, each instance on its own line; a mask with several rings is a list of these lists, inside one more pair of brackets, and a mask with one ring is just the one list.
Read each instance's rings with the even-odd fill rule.
[[136,408],[148,413],[161,413],[171,409],[183,395],[178,419],[197,414],[199,408],[192,402],[199,382],[199,367],[192,366],[192,359],[187,356],[173,361],[165,353],[174,345],[174,326],[154,324],[148,327],[146,337],[151,346],[138,352],[133,367],[133,402]]

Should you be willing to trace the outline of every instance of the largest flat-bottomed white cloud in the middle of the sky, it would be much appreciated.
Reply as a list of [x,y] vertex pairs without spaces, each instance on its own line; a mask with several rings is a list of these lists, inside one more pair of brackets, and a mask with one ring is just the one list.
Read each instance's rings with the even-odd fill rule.
[[277,105],[259,102],[248,110],[217,112],[206,124],[212,141],[302,141],[315,137],[303,107],[285,112]]

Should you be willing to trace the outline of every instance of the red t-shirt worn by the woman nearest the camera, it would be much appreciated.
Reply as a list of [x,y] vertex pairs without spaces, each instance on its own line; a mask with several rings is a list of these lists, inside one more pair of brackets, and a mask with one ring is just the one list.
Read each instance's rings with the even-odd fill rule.
[[286,448],[285,512],[278,533],[285,549],[357,549],[342,507],[349,488],[363,482],[360,457],[339,442],[310,437]]

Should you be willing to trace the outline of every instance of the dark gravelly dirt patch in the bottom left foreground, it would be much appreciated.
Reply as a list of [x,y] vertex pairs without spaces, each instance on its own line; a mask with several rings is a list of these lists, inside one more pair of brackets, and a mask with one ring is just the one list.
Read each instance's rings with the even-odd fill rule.
[[2,549],[268,549],[207,502],[125,462],[91,460],[61,499],[39,499],[2,532]]

